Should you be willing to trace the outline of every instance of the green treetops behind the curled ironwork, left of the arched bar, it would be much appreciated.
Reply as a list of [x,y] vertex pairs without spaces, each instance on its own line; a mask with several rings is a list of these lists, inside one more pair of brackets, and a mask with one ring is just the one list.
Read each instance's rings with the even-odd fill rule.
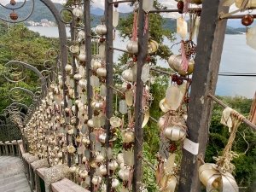
[[[5,26],[5,27],[4,27]],[[53,38],[40,37],[38,32],[29,31],[23,24],[10,26],[9,31],[7,26],[0,23],[3,35],[0,36],[0,113],[4,108],[11,104],[9,99],[9,90],[15,86],[26,88],[35,92],[38,84],[38,75],[30,70],[25,70],[26,79],[20,83],[9,83],[3,74],[6,74],[4,65],[9,61],[23,61],[28,64],[36,65],[39,71],[44,70],[44,61],[46,59],[46,51],[55,44]],[[26,96],[22,101],[29,106],[32,103],[32,98]]]

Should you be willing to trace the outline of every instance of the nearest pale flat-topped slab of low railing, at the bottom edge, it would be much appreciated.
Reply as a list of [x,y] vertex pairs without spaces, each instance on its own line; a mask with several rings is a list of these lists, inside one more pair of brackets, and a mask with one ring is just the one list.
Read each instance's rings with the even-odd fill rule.
[[51,183],[51,189],[53,192],[89,192],[65,177],[61,181]]

